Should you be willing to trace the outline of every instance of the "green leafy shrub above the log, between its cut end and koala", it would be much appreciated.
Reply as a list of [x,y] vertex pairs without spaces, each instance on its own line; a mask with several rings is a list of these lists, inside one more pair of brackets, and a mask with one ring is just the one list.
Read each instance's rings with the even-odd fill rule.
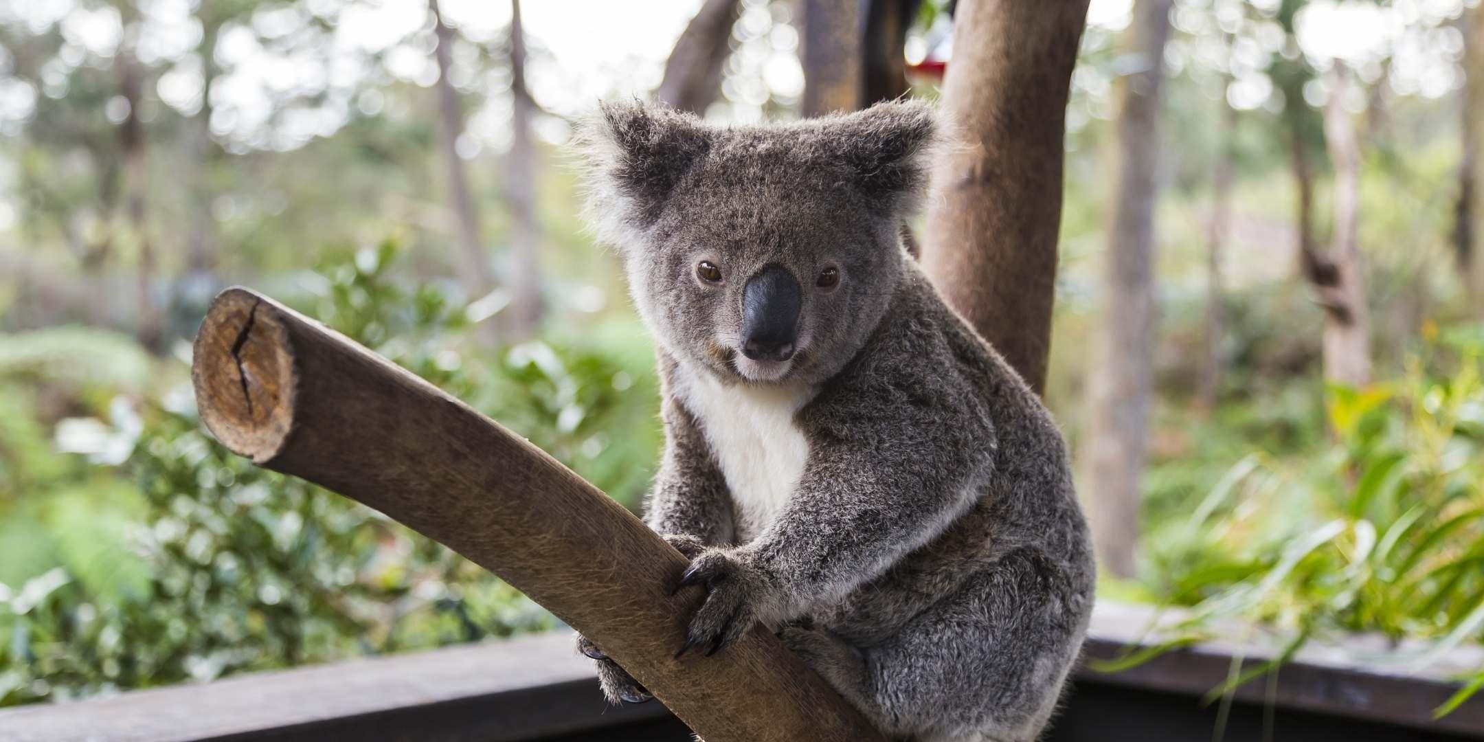
[[467,332],[469,307],[435,283],[389,279],[396,257],[392,240],[332,257],[319,295],[300,304],[637,508],[662,441],[654,359],[637,324],[484,352]]

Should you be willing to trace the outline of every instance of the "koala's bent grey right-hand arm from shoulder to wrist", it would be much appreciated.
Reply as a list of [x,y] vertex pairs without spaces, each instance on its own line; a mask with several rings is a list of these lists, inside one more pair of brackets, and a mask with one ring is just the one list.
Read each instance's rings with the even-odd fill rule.
[[[902,383],[907,381],[907,383]],[[996,435],[945,380],[849,384],[806,411],[809,463],[784,512],[739,549],[787,620],[833,603],[941,534],[985,491]]]

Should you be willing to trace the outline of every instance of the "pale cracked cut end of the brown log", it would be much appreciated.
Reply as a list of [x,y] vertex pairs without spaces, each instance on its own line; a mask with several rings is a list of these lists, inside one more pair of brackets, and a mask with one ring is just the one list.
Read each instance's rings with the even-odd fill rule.
[[283,448],[294,423],[294,353],[279,309],[229,288],[206,310],[196,335],[191,380],[206,427],[254,463]]

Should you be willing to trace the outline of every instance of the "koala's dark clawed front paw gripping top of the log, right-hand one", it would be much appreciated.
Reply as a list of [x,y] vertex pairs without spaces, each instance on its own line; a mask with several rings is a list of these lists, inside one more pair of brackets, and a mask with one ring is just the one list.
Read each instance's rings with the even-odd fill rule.
[[706,600],[692,616],[677,657],[692,647],[705,647],[706,656],[715,654],[746,634],[772,601],[766,580],[739,549],[709,549],[692,559],[675,592],[692,585],[703,585]]

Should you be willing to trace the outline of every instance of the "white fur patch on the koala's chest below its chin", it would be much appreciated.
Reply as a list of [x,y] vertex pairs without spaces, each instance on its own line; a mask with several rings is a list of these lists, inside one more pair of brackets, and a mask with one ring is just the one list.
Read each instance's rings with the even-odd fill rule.
[[794,424],[794,414],[810,390],[724,386],[705,371],[681,374],[684,384],[678,390],[727,478],[738,543],[746,543],[784,509],[804,473],[809,442]]

